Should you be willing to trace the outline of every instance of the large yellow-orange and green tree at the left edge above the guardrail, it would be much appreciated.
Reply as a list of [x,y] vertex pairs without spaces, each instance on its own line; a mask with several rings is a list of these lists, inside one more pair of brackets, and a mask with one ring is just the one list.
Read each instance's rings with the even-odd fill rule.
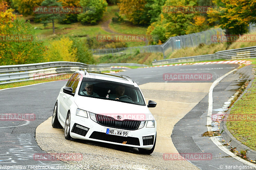
[[[0,65],[43,62],[42,42],[37,41],[29,21],[13,14],[13,9],[0,11]],[[25,39],[12,39],[13,36]],[[11,37],[11,38],[10,38]],[[28,39],[29,38],[29,39]],[[31,48],[33,47],[33,48]]]

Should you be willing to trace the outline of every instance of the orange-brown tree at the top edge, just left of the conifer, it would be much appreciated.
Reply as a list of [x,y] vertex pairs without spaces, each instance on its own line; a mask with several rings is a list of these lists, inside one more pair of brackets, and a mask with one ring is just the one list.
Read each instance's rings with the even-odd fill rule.
[[24,16],[34,15],[34,7],[40,6],[42,2],[43,0],[12,0],[15,9]]

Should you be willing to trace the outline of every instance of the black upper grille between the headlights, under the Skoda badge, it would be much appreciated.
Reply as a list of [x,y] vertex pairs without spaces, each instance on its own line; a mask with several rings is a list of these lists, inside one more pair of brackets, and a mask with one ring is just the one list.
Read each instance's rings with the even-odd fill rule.
[[96,114],[97,123],[102,126],[107,126],[111,128],[125,129],[125,130],[137,130],[140,126],[140,121],[133,120],[123,120],[117,121],[113,117],[97,115]]

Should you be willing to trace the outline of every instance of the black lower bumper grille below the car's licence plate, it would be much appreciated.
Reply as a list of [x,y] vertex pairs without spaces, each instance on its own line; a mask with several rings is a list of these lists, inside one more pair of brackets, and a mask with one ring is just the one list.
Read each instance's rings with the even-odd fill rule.
[[92,139],[98,139],[108,142],[115,142],[115,143],[124,143],[131,144],[131,145],[137,145],[140,146],[140,140],[137,137],[122,137],[122,136],[116,136],[116,135],[108,135],[103,132],[92,132],[92,135],[90,136]]

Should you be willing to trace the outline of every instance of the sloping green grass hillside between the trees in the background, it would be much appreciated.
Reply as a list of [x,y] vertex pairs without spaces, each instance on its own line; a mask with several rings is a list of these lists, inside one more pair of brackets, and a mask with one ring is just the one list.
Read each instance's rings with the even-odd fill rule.
[[[35,33],[36,35],[41,35],[43,38],[43,42],[45,46],[48,46],[50,42],[59,39],[62,36],[79,36],[81,39],[85,39],[86,37],[96,37],[99,34],[113,34],[108,33],[101,28],[101,24],[109,19],[115,17],[115,12],[118,12],[118,6],[112,5],[108,6],[107,10],[104,12],[102,20],[98,25],[82,25],[80,22],[72,23],[72,24],[60,24],[58,20],[55,20],[55,34],[52,33],[52,23],[49,23],[46,27],[40,23],[31,22],[32,27],[36,27]],[[28,17],[27,17],[28,18]],[[110,29],[112,24],[110,24]],[[140,26],[131,26],[129,24],[121,23],[121,24],[113,24],[114,30],[118,33],[126,33],[126,34],[146,34],[146,27]],[[127,42],[128,47],[134,46],[145,46],[145,42]]]

